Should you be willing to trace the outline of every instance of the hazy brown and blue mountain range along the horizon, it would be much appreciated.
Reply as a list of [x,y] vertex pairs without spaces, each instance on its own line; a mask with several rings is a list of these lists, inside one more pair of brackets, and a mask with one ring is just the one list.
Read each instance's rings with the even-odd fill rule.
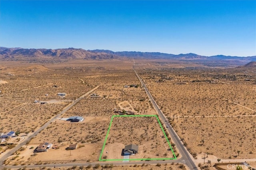
[[0,60],[68,60],[68,59],[122,59],[123,57],[143,58],[143,59],[172,59],[182,61],[194,61],[200,63],[226,63],[242,65],[251,61],[256,61],[256,56],[238,57],[238,56],[202,56],[194,53],[188,54],[167,54],[159,52],[137,52],[110,50],[84,50],[84,49],[23,49],[0,47]]

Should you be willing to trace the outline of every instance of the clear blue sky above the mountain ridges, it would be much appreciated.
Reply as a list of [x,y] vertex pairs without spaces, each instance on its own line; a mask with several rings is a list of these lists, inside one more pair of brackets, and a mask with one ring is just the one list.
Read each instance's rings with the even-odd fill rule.
[[0,46],[256,55],[256,0],[0,0]]

